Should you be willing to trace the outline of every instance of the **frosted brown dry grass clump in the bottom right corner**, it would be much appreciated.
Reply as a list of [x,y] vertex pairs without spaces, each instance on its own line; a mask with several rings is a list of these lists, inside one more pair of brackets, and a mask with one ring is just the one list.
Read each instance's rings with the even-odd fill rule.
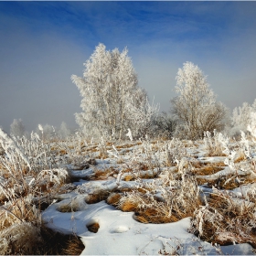
[[190,231],[201,240],[228,245],[250,243],[256,248],[255,206],[228,194],[211,194],[208,206],[195,211]]

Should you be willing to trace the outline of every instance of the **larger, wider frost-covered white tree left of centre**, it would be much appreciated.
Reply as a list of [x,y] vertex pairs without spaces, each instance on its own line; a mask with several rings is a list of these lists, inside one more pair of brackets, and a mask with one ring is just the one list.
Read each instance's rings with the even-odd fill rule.
[[[106,50],[99,44],[85,63],[83,78],[72,75],[82,96],[76,121],[86,132],[107,133],[121,139],[127,129],[139,133],[153,109],[144,90],[137,86],[137,75],[127,48]],[[136,122],[139,120],[139,123]]]

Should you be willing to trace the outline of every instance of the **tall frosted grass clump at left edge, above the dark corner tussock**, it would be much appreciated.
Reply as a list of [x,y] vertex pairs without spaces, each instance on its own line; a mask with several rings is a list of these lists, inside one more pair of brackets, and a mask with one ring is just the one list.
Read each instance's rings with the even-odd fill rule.
[[43,144],[36,133],[31,133],[31,140],[12,139],[0,129],[0,143],[5,150],[0,157],[0,176],[5,176],[0,179],[0,196],[12,203],[30,194],[39,200],[42,192],[48,194],[49,187],[57,189],[68,176],[65,169],[56,168],[50,146]]

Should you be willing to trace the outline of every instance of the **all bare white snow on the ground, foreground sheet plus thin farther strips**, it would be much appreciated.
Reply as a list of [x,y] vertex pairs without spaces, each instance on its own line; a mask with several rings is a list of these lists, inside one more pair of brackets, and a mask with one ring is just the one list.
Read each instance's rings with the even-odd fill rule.
[[[138,146],[134,146],[137,148]],[[127,151],[127,155],[132,154],[134,148]],[[189,148],[194,152],[195,148]],[[120,155],[123,149],[119,149]],[[197,152],[198,160],[201,163],[219,163],[224,162],[225,157],[204,157],[206,153]],[[123,155],[123,161],[129,159]],[[112,156],[110,154],[110,156]],[[125,158],[126,157],[126,158]],[[162,158],[164,156],[162,155]],[[161,158],[161,157],[160,157]],[[91,177],[91,180],[74,182],[77,189],[71,193],[59,197],[59,202],[53,203],[42,214],[50,229],[55,229],[65,233],[76,233],[84,243],[84,255],[156,255],[156,254],[198,254],[198,255],[249,255],[254,251],[248,243],[219,246],[212,245],[206,241],[199,240],[194,234],[190,233],[190,218],[181,219],[174,223],[152,224],[141,223],[135,220],[134,212],[123,212],[107,204],[105,200],[94,204],[87,204],[86,198],[99,190],[112,191],[120,187],[134,187],[134,181],[117,182],[117,176],[109,176],[103,180],[93,180],[92,174],[97,170],[108,170],[111,167],[122,170],[123,164],[118,165],[115,158],[96,160],[97,165],[84,170],[73,170],[70,172],[76,177]],[[145,160],[144,153],[141,154],[141,160]],[[72,165],[69,165],[71,168]],[[170,167],[175,168],[175,167]],[[226,166],[219,173],[204,176],[208,180],[223,176],[227,172],[233,172]],[[74,168],[76,169],[76,168]],[[162,168],[164,169],[164,168]],[[146,171],[145,171],[146,172]],[[146,179],[144,182],[150,182],[152,179]],[[212,192],[210,187],[201,187],[205,194]],[[239,193],[240,189],[234,189]],[[65,207],[74,208],[70,212],[61,212],[59,209]],[[99,224],[98,231],[91,232],[88,227],[91,224]]]

